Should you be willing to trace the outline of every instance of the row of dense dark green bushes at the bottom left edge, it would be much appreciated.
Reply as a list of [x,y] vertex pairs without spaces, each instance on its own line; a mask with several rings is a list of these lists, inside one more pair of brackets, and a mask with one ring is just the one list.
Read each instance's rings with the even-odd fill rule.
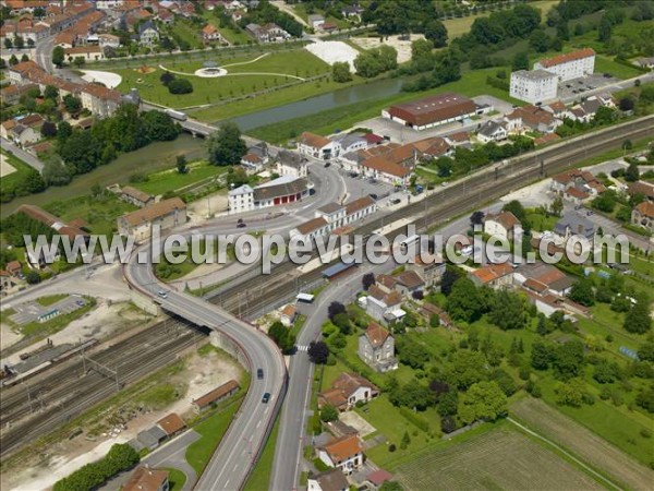
[[111,446],[105,458],[86,464],[55,483],[53,491],[89,491],[97,489],[123,470],[134,467],[141,457],[126,443]]

